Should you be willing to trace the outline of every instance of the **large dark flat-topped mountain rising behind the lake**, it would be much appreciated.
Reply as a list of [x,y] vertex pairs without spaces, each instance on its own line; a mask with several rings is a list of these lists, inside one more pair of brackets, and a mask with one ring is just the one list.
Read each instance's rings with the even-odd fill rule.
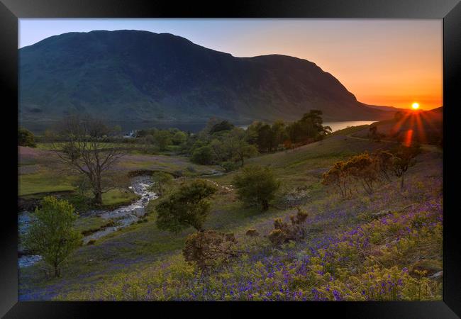
[[19,50],[21,121],[90,113],[113,121],[325,121],[391,118],[313,62],[233,57],[168,33],[65,33]]

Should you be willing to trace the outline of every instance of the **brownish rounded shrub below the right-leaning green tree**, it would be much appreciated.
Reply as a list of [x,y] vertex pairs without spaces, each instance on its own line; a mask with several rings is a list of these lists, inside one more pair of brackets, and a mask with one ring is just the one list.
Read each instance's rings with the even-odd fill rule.
[[235,257],[236,242],[233,234],[205,230],[187,237],[182,254],[187,262],[195,262],[199,269],[206,271],[216,264],[227,262],[230,257]]

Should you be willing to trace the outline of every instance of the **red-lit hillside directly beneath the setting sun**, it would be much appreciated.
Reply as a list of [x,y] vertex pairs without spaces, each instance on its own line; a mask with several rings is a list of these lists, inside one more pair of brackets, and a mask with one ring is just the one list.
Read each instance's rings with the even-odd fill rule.
[[[377,132],[393,140],[404,140],[410,137],[423,144],[440,144],[443,142],[443,106],[430,111],[401,112],[401,117],[372,123]],[[353,136],[365,138],[370,128],[360,130]]]

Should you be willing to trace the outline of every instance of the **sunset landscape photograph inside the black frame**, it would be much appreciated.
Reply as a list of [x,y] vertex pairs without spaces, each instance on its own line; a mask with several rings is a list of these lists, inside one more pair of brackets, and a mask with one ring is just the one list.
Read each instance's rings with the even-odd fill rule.
[[442,301],[443,21],[20,18],[17,214],[19,301]]

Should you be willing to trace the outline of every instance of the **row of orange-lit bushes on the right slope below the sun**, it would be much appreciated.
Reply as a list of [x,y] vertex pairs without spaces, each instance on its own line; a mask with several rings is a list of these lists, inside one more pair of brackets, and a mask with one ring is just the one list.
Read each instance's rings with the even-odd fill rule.
[[323,184],[334,185],[341,196],[352,195],[354,182],[362,185],[367,194],[372,194],[379,181],[391,181],[391,175],[401,179],[400,189],[404,188],[404,175],[415,164],[419,154],[419,145],[409,147],[399,145],[392,151],[379,150],[369,154],[364,152],[345,161],[336,162],[323,174]]

